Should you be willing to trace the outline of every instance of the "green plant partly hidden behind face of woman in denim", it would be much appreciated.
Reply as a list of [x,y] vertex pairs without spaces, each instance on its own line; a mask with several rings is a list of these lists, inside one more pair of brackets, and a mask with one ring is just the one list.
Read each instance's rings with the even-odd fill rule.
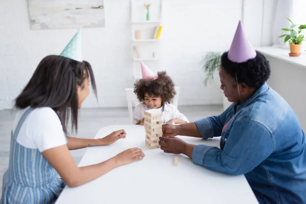
[[[206,72],[204,85],[207,86],[210,80],[214,80],[214,73],[219,70],[221,65],[221,53],[208,52],[201,61],[202,69]],[[223,95],[223,94],[222,94]],[[231,106],[231,102],[223,95],[223,110]]]

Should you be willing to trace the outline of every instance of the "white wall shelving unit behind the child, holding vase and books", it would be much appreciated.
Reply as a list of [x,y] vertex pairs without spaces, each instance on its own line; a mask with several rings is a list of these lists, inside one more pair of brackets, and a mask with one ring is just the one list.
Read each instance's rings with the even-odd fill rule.
[[[150,20],[146,20],[144,4],[150,6]],[[131,32],[132,32],[132,58],[134,78],[141,78],[140,62],[144,62],[153,71],[158,70],[160,61],[160,39],[154,38],[156,27],[162,25],[163,0],[131,0]],[[136,39],[136,31],[141,31],[141,39]],[[163,33],[163,32],[162,32]],[[162,36],[162,35],[161,35]],[[140,57],[134,46],[139,49]]]

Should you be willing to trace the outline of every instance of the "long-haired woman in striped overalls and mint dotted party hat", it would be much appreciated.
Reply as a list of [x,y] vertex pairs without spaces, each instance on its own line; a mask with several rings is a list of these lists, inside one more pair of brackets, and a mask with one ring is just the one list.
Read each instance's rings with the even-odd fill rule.
[[78,167],[74,163],[69,150],[112,144],[126,135],[119,130],[101,139],[66,137],[69,112],[72,128],[78,129],[78,109],[89,95],[90,80],[97,93],[92,68],[82,60],[80,42],[79,31],[60,56],[45,57],[16,98],[0,203],[51,203],[65,184],[83,185],[144,157],[141,149],[132,148],[98,164]]

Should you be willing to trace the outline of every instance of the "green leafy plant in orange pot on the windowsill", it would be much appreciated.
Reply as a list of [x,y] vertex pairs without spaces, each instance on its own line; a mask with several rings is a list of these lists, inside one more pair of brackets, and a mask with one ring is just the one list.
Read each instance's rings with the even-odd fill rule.
[[299,25],[299,27],[296,29],[298,24],[294,24],[292,20],[289,18],[286,18],[291,22],[290,29],[282,29],[283,31],[289,31],[290,34],[284,34],[279,36],[279,38],[283,38],[284,42],[290,43],[290,53],[289,56],[291,57],[298,57],[300,56],[301,52],[301,44],[302,41],[304,41],[304,35],[301,34],[303,29],[306,29],[306,24]]

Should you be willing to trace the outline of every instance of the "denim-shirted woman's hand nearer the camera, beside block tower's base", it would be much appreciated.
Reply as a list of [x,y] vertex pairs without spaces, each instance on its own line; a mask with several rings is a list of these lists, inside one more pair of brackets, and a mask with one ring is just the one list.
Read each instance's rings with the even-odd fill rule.
[[159,145],[166,153],[184,154],[185,144],[183,140],[176,137],[160,137]]

